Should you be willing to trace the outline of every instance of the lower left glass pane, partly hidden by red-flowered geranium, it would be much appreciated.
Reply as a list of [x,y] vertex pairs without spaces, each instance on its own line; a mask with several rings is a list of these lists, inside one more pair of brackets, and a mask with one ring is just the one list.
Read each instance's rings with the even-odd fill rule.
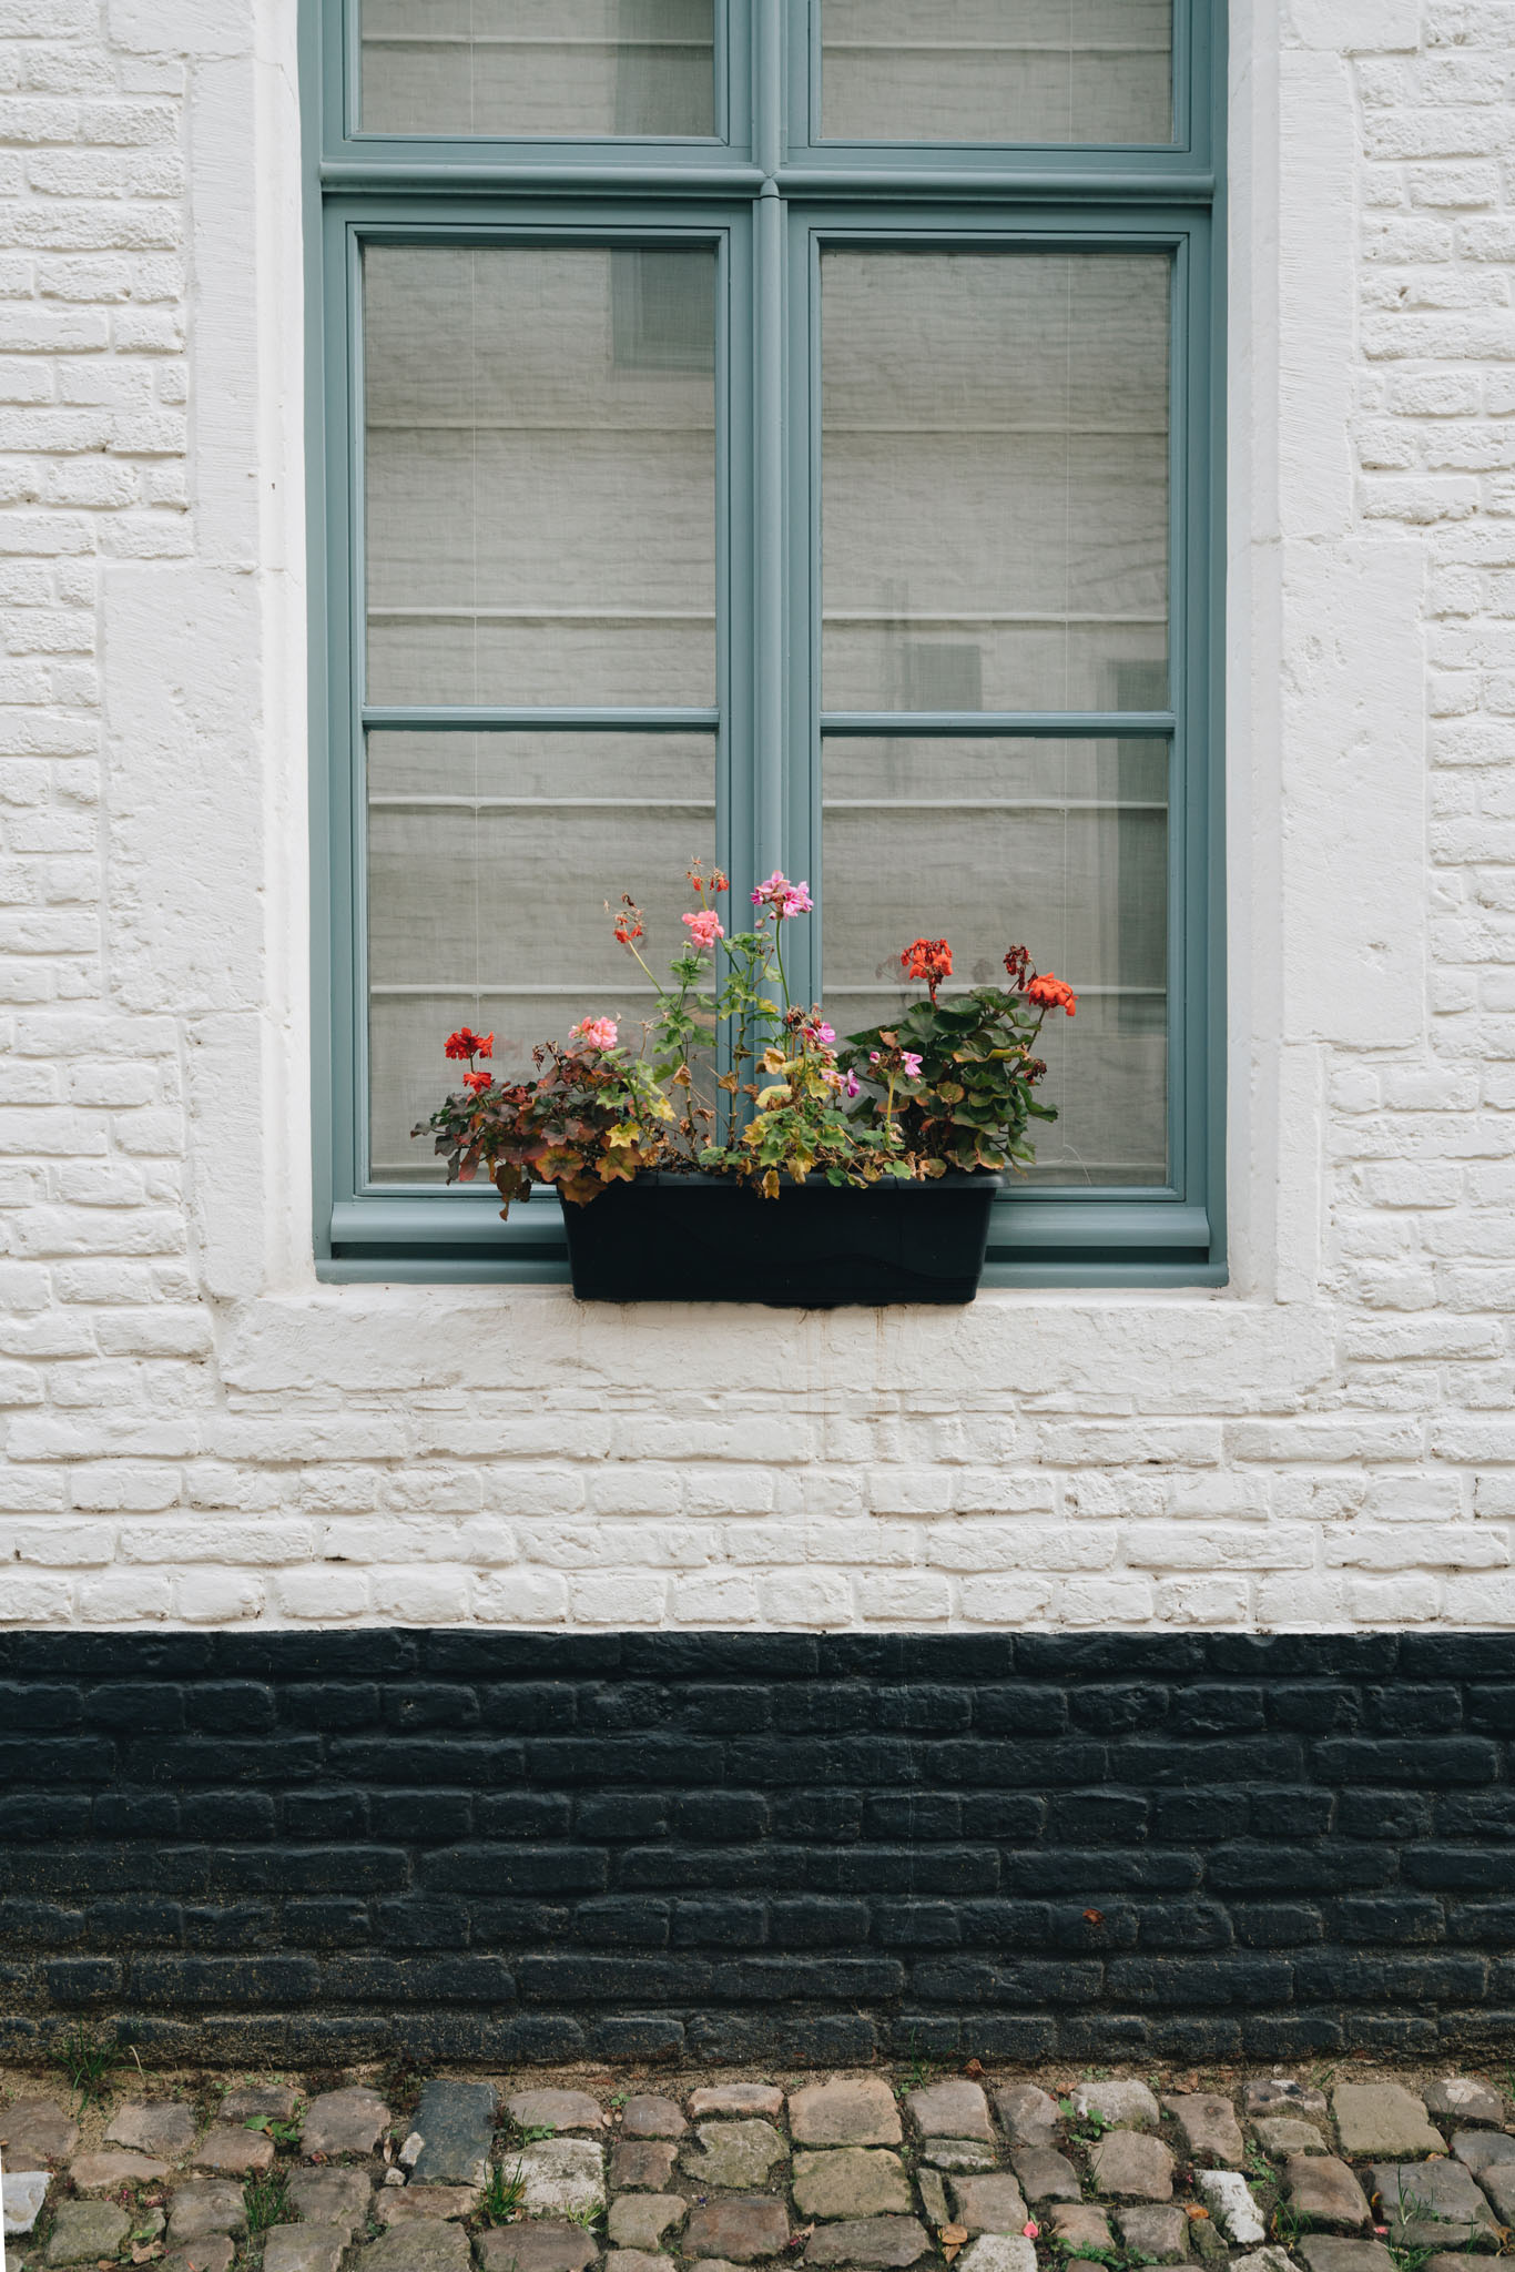
[[370,734],[373,1179],[441,1179],[411,1129],[457,1086],[457,1025],[493,1031],[516,1077],[579,1018],[634,1027],[650,988],[604,902],[641,895],[659,970],[684,938],[684,870],[713,854],[706,734]]

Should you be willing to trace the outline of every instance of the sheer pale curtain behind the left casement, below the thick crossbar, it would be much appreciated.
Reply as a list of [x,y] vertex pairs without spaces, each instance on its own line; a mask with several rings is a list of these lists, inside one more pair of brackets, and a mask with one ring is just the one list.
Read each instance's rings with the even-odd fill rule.
[[[370,248],[370,704],[711,707],[713,370],[713,252]],[[647,1009],[604,902],[677,932],[715,741],[373,732],[366,813],[370,1172],[416,1181],[450,1027],[525,1070]]]

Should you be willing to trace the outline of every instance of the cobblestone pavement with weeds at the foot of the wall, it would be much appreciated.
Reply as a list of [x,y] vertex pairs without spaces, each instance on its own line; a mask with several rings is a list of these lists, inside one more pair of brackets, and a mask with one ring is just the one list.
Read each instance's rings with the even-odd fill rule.
[[7,2072],[5,2227],[25,2272],[1467,2272],[1510,2081]]

